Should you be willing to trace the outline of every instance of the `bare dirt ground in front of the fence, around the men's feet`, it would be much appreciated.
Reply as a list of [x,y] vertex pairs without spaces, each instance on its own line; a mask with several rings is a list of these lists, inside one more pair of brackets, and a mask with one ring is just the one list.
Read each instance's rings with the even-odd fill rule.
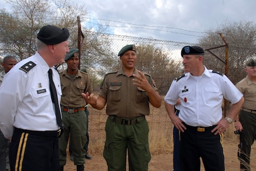
[[[225,154],[225,170],[226,171],[234,171],[239,169],[239,161],[237,157],[238,143],[233,140],[224,140],[223,141],[223,149]],[[256,150],[256,145],[252,146],[252,156],[251,161],[255,161],[256,155],[253,151]],[[91,160],[86,160],[86,164],[84,164],[84,170],[94,170],[94,171],[105,171],[108,170],[105,159],[102,155],[99,154],[91,154],[93,157]],[[172,171],[173,163],[172,163],[172,153],[170,154],[157,154],[152,155],[152,159],[149,163],[148,171]],[[67,164],[64,167],[65,171],[76,170],[74,163],[69,159],[67,160]],[[128,169],[127,169],[128,170]],[[201,167],[201,171],[204,170],[203,164]],[[251,162],[251,170],[256,170],[256,163]]]

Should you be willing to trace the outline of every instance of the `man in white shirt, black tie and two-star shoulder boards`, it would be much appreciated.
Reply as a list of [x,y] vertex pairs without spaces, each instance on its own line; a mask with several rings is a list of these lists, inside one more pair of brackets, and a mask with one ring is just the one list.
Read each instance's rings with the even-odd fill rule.
[[43,26],[37,34],[37,51],[5,75],[0,89],[0,124],[11,138],[11,170],[59,170],[58,137],[62,117],[61,82],[55,65],[64,62],[67,28]]

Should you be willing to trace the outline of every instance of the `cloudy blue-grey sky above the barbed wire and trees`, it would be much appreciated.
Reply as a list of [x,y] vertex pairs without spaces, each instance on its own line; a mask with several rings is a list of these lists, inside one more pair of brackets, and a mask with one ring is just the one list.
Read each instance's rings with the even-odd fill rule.
[[[49,0],[50,1],[50,0]],[[68,1],[68,0],[67,0]],[[223,24],[256,22],[255,0],[76,0],[86,27],[108,24],[110,34],[197,43]],[[8,8],[5,0],[0,7]]]

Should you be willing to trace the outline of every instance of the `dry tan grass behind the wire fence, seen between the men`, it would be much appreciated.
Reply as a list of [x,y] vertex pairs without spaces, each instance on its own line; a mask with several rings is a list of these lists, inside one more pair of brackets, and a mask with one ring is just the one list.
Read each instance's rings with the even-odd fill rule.
[[[89,152],[102,154],[105,143],[105,122],[108,116],[105,109],[98,111],[89,106]],[[173,124],[167,116],[165,105],[160,108],[150,108],[150,115],[146,116],[150,127],[149,143],[151,154],[169,154],[173,151]],[[238,141],[238,135],[233,131],[233,124],[226,130],[224,136],[228,140]]]

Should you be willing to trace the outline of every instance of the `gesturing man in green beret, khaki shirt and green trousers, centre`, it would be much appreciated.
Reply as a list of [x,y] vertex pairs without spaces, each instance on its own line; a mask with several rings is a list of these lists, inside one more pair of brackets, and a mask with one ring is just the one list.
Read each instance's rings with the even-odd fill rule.
[[108,170],[125,171],[128,150],[129,170],[146,171],[151,155],[145,115],[150,114],[149,103],[159,108],[162,98],[151,76],[136,69],[134,44],[124,46],[118,56],[122,69],[105,76],[99,96],[82,95],[93,108],[103,109],[108,104],[103,151]]

